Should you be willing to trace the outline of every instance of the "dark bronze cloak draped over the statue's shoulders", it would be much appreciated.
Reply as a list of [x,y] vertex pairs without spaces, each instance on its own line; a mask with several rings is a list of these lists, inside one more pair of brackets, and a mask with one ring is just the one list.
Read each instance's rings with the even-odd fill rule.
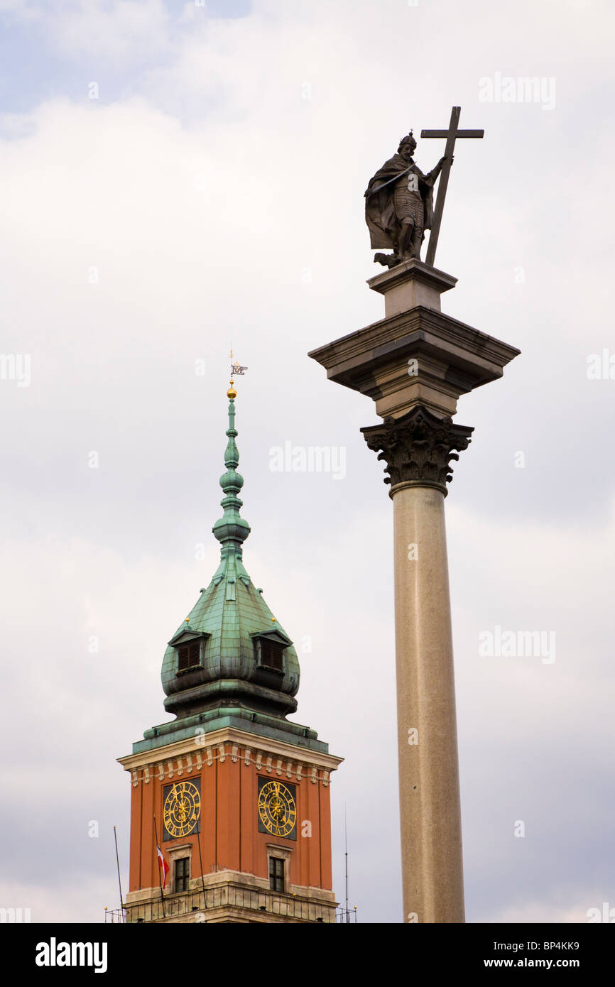
[[395,249],[399,223],[395,215],[394,192],[397,181],[404,175],[414,173],[419,178],[419,192],[423,199],[425,230],[431,229],[433,220],[433,183],[435,178],[431,172],[423,175],[414,162],[408,164],[401,154],[392,158],[379,168],[370,180],[365,191],[365,222],[369,227],[372,248],[390,247]]

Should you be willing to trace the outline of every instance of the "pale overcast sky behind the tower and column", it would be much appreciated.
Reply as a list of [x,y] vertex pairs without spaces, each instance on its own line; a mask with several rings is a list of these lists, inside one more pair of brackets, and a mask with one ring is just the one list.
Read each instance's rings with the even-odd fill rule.
[[[460,399],[475,432],[446,499],[467,918],[615,907],[612,4],[0,11],[1,348],[20,356],[0,380],[0,904],[101,921],[114,824],[127,889],[115,758],[168,719],[166,643],[217,566],[232,341],[245,565],[298,645],[293,719],[346,758],[335,890],[346,805],[350,904],[401,921],[392,505],[359,432],[378,418],[307,352],[383,317],[363,191],[460,105],[486,133],[455,153],[443,309],[522,351]],[[419,140],[423,171],[442,153]],[[344,450],[344,475],[271,470],[286,442]],[[481,655],[496,627],[554,632],[555,660]]]

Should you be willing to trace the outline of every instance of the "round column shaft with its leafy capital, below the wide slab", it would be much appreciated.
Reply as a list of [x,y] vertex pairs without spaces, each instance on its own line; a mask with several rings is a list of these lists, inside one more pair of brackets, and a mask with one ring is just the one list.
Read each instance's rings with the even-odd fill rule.
[[444,496],[472,430],[421,406],[361,429],[393,498],[405,922],[465,921]]

